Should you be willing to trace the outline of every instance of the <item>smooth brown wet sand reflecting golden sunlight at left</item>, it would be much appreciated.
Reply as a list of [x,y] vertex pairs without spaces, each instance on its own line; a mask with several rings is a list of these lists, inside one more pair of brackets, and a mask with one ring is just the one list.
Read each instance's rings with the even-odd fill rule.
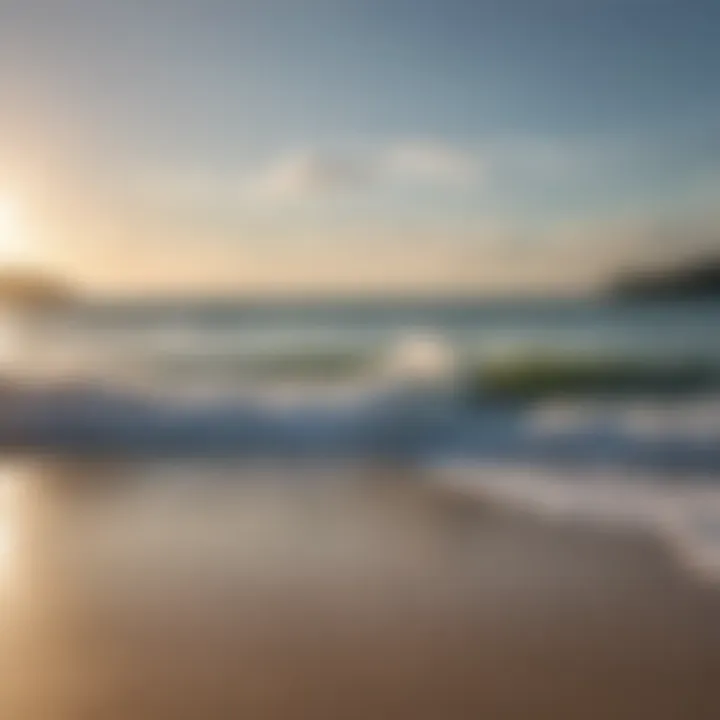
[[720,717],[720,593],[652,538],[412,475],[4,477],[2,720]]

